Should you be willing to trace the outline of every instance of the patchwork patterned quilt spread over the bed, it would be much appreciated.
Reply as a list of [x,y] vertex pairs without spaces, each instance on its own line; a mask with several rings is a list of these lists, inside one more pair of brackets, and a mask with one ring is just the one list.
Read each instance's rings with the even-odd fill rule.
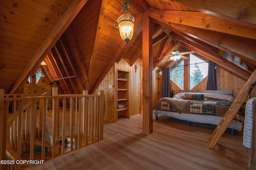
[[[182,98],[181,98],[182,99]],[[203,98],[202,100],[191,100],[192,104],[183,113],[199,114],[199,115],[212,115],[212,116],[224,116],[231,106],[232,102],[228,100],[214,99],[214,98]],[[154,110],[171,111],[177,112],[170,106],[166,101],[160,100],[153,107]],[[235,120],[244,122],[244,115],[238,111]]]

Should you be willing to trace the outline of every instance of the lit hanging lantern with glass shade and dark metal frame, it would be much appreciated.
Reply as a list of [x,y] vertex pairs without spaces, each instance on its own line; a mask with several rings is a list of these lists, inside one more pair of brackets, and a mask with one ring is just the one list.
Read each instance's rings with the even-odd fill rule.
[[[118,17],[118,19],[114,22],[114,27],[115,28],[119,27],[121,38],[126,42],[126,44],[128,44],[128,41],[132,39],[135,19],[132,16],[131,10],[129,9],[128,1],[124,1],[124,6],[119,7],[120,12],[122,12],[121,10],[122,8],[124,8],[124,13],[122,16]],[[117,27],[116,27],[116,23],[118,24]]]

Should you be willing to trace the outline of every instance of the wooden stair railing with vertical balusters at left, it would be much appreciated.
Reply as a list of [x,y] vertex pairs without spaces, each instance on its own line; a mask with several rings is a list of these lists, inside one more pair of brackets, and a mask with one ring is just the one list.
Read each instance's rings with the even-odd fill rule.
[[[103,140],[104,92],[53,96],[6,95],[0,90],[0,169],[33,166]],[[47,103],[52,101],[52,110]],[[60,106],[61,105],[61,106]],[[6,140],[5,140],[6,139]],[[5,152],[3,152],[6,150]],[[17,162],[18,161],[18,162]],[[34,163],[34,162],[33,162]]]

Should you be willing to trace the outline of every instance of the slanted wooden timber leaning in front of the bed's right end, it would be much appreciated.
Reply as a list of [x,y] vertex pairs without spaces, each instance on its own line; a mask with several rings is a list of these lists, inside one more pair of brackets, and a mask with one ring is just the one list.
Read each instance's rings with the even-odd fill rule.
[[246,84],[236,97],[235,101],[232,103],[222,120],[220,121],[219,125],[216,127],[214,132],[212,133],[211,137],[209,138],[210,143],[208,144],[208,148],[214,148],[216,143],[219,141],[220,137],[228,128],[228,125],[244,103],[244,100],[249,95],[250,89],[254,87],[254,82],[256,82],[256,70],[252,73],[250,78],[247,80]]

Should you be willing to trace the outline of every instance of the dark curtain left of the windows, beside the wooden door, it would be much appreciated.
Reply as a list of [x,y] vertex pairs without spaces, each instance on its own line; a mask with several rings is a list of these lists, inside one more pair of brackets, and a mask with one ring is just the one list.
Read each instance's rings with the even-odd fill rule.
[[163,68],[162,98],[171,97],[170,68]]

